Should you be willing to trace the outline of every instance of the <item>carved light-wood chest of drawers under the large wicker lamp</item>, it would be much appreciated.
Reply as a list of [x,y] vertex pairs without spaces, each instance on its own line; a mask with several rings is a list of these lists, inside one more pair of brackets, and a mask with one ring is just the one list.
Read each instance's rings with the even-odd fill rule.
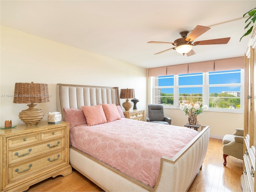
[[49,177],[72,173],[69,124],[39,122],[0,130],[0,191],[25,191]]

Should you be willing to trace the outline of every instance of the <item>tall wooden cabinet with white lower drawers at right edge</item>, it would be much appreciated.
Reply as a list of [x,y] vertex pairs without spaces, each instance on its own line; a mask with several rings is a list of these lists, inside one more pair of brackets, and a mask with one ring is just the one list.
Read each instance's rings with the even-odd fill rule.
[[[243,191],[255,191],[256,146],[256,25],[245,52],[245,107],[244,107],[244,171],[241,176]],[[255,96],[254,96],[255,95]]]

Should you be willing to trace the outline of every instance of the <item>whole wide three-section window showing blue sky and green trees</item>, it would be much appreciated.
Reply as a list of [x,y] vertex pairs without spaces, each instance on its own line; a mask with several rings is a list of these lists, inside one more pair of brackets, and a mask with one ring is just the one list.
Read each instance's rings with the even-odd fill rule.
[[154,103],[178,108],[181,101],[202,101],[212,111],[243,112],[244,70],[158,76]]

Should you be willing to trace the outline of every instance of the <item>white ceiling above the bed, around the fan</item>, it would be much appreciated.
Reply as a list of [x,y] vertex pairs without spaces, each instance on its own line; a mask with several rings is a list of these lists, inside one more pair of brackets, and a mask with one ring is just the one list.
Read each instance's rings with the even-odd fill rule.
[[[255,0],[1,0],[1,25],[69,46],[152,68],[243,56],[249,36],[242,15]],[[195,55],[182,56],[171,44],[180,32],[196,25],[211,29],[196,38],[231,37],[225,45],[194,46]]]

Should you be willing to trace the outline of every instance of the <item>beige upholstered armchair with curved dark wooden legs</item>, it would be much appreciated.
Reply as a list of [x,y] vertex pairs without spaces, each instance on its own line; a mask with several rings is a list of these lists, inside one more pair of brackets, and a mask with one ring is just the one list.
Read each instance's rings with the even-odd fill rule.
[[232,135],[225,135],[222,140],[223,146],[223,165],[227,164],[227,156],[233,156],[243,160],[244,155],[244,130],[236,129]]

